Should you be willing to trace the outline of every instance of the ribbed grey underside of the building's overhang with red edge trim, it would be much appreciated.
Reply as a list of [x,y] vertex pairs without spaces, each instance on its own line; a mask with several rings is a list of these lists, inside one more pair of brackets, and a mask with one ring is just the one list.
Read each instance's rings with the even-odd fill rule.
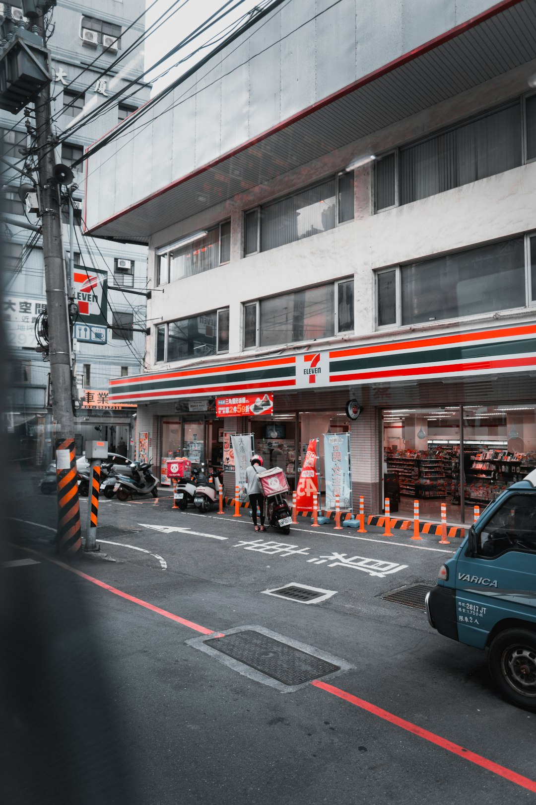
[[[177,221],[534,59],[536,0],[499,3],[125,208],[116,204],[121,211],[105,220],[92,223],[90,214],[88,231],[147,243]],[[91,159],[89,165],[91,175]]]

